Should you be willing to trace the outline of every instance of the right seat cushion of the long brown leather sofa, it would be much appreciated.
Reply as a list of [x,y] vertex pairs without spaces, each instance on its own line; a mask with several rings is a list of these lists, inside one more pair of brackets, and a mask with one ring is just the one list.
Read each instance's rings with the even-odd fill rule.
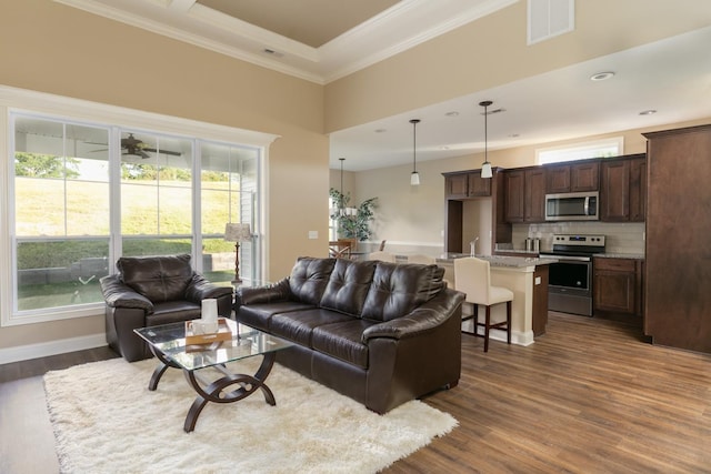
[[341,361],[368,369],[368,345],[363,344],[363,331],[380,324],[375,321],[351,319],[313,329],[313,349]]

